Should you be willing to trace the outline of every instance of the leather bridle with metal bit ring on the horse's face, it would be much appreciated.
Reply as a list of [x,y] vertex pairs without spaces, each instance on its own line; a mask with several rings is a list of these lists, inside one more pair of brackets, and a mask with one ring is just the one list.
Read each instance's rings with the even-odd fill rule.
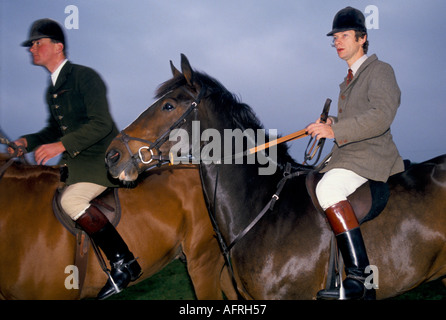
[[[201,86],[201,90],[198,93],[197,96],[195,96],[191,91],[189,91],[186,88],[182,88],[184,91],[186,91],[186,93],[188,95],[190,95],[194,101],[191,103],[191,105],[189,106],[189,108],[186,109],[186,111],[178,118],[178,120],[176,120],[170,127],[169,129],[167,129],[166,131],[164,131],[164,133],[162,133],[154,142],[149,141],[149,140],[145,140],[145,139],[141,139],[141,138],[135,138],[135,137],[131,137],[128,134],[126,134],[123,131],[121,131],[121,136],[115,138],[115,140],[120,140],[126,147],[128,153],[130,154],[130,161],[132,162],[132,164],[134,165],[134,167],[138,170],[138,162],[142,163],[142,164],[150,164],[153,160],[157,160],[158,162],[152,166],[149,167],[148,169],[145,169],[145,171],[150,170],[154,167],[160,167],[164,164],[168,164],[170,163],[170,158],[169,156],[164,156],[162,155],[162,152],[160,151],[161,146],[166,143],[166,141],[169,140],[169,135],[170,133],[174,130],[177,129],[178,127],[180,127],[183,123],[185,123],[187,121],[187,117],[194,112],[194,118],[195,120],[197,120],[197,111],[198,111],[198,105],[200,104],[204,93],[206,92],[206,88],[204,86]],[[169,93],[171,93],[172,91],[167,92],[163,97],[161,97],[159,100],[163,99],[166,95],[168,95]],[[145,146],[142,146],[138,149],[138,152],[135,154],[132,152],[132,150],[130,149],[129,146],[129,142],[130,141],[138,141],[138,142],[142,142],[144,144],[146,144]],[[144,156],[142,154],[143,150],[147,150],[148,152],[150,152],[150,160],[145,160]],[[153,150],[155,150],[155,154],[153,152]],[[139,172],[139,170],[138,170]]]

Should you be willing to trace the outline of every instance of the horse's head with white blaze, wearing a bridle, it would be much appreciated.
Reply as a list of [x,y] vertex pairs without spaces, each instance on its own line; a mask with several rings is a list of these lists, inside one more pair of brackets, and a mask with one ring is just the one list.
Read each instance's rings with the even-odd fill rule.
[[[124,183],[135,181],[142,171],[169,161],[172,133],[191,130],[197,106],[206,93],[195,77],[186,56],[181,55],[182,72],[172,62],[173,78],[162,84],[154,102],[110,144],[106,163],[111,175]],[[184,142],[184,141],[183,141]]]

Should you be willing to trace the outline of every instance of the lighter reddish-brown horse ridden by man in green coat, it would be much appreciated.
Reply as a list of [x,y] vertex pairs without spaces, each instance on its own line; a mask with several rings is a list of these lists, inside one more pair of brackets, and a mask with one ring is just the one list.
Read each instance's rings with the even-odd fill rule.
[[[8,157],[0,154],[0,167]],[[65,287],[70,274],[65,269],[74,264],[75,237],[52,212],[59,180],[58,167],[18,162],[0,178],[1,299],[92,298],[107,280],[89,250],[82,292]],[[227,270],[220,284],[224,261],[196,166],[153,171],[137,187],[118,193],[122,213],[117,229],[143,269],[137,282],[184,253],[198,299],[222,299],[222,290],[235,297]]]

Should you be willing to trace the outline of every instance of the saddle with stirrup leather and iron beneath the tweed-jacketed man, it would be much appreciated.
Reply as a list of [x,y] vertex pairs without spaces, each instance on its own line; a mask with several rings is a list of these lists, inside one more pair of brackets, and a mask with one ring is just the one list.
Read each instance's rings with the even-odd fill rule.
[[[307,174],[305,183],[308,193],[315,208],[325,216],[319,201],[316,197],[316,185],[323,174],[313,170]],[[389,185],[384,182],[369,180],[359,187],[347,199],[349,200],[356,214],[359,224],[376,218],[386,207],[389,200]],[[336,238],[333,234],[330,244],[330,258],[328,262],[327,281],[325,288],[327,290],[341,290],[342,285],[341,272],[343,269],[342,257],[336,244]]]

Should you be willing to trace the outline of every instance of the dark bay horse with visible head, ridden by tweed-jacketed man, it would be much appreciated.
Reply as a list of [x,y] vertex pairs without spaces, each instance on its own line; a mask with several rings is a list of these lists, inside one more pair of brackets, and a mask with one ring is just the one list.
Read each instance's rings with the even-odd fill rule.
[[[174,130],[193,136],[193,120],[199,121],[200,134],[211,130],[206,137],[215,131],[223,137],[224,130],[262,128],[249,106],[214,78],[193,70],[184,55],[181,72],[172,62],[171,67],[173,78],[158,88],[158,100],[126,128],[131,143],[127,148],[119,140],[110,145],[109,172],[121,180],[135,180],[145,163],[177,151]],[[198,137],[200,151],[209,151],[215,141]],[[193,153],[193,139],[185,143]],[[295,172],[308,169],[291,158],[286,146],[277,146],[276,152],[274,174],[260,174],[260,161],[248,164],[244,159],[235,164],[201,159],[205,200],[223,243],[227,248],[231,244],[234,278],[244,298],[315,299],[326,284],[332,231],[310,199],[305,174],[289,179],[273,209],[239,236],[274,199],[287,163]],[[187,157],[194,159],[191,154]],[[378,299],[446,274],[446,155],[411,166],[390,177],[388,185],[387,206],[361,226],[370,262],[379,271],[379,278],[373,278],[379,280]]]

